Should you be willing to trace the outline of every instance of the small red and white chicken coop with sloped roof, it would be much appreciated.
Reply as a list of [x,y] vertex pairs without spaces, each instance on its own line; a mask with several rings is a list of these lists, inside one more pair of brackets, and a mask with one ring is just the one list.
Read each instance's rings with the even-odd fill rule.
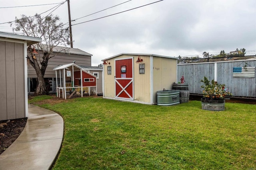
[[80,66],[70,63],[59,65],[53,70],[56,74],[57,97],[62,96],[66,99],[68,91],[70,91],[70,94],[78,91],[83,97],[84,93],[92,94],[92,88],[97,94],[97,76],[83,70]]

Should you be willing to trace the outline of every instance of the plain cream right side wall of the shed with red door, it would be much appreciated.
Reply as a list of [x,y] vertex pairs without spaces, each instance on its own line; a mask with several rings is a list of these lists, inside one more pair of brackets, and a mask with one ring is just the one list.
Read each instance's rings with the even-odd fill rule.
[[154,103],[157,102],[157,91],[172,89],[172,83],[176,82],[176,67],[176,59],[153,58]]

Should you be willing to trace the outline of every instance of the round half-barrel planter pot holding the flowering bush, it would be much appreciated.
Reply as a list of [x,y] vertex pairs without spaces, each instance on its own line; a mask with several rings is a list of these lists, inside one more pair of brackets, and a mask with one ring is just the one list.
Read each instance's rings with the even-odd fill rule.
[[202,109],[210,111],[222,111],[225,109],[225,99],[223,100],[204,100],[201,99]]

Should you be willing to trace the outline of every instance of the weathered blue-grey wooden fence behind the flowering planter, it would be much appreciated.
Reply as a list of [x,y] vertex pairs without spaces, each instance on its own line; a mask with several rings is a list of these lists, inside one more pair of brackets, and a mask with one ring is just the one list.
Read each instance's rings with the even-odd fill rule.
[[[239,60],[239,61],[222,61],[211,63],[190,63],[178,64],[178,80],[184,76],[185,82],[189,84],[190,94],[202,94],[201,79],[204,76],[209,80],[215,80],[220,84],[225,84],[234,96],[256,98],[256,76],[255,76],[256,59]],[[254,72],[251,75],[236,76],[233,69],[242,68],[242,72]],[[235,72],[235,71],[234,71]],[[241,73],[242,73],[241,72]]]

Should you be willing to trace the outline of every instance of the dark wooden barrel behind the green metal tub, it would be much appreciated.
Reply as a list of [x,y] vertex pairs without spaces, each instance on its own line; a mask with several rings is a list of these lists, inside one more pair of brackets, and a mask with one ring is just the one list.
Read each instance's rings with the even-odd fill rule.
[[173,83],[172,89],[180,90],[180,103],[188,103],[189,100],[189,88],[188,83]]

